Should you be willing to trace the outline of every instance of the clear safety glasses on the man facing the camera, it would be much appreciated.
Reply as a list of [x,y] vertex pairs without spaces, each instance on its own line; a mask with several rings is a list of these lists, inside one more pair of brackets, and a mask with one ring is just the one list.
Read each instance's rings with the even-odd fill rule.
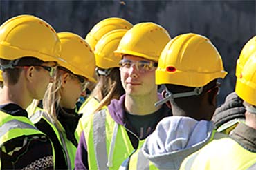
[[129,69],[135,65],[136,70],[140,73],[145,73],[154,70],[157,67],[157,63],[153,61],[136,61],[122,59],[119,63],[119,67],[123,72],[129,72]]

